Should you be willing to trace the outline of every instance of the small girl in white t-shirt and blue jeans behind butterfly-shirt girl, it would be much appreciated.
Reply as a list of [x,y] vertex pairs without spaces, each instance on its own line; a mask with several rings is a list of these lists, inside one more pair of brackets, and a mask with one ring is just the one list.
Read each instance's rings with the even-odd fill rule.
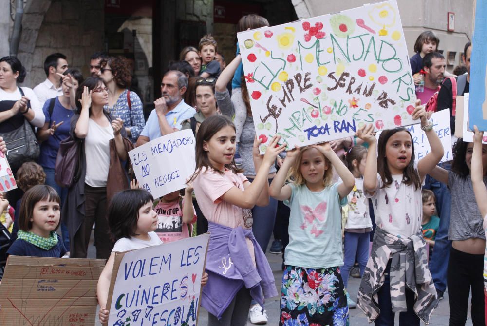
[[[342,211],[346,217],[344,226],[344,252],[345,257],[341,275],[345,288],[348,285],[350,269],[354,266],[355,257],[360,267],[362,277],[367,260],[369,259],[369,233],[372,231],[372,220],[369,215],[368,200],[363,192],[363,175],[367,160],[367,149],[363,146],[352,147],[345,155],[347,168],[355,178],[355,186],[348,195],[348,205]],[[349,308],[355,308],[356,303],[347,292]]]

